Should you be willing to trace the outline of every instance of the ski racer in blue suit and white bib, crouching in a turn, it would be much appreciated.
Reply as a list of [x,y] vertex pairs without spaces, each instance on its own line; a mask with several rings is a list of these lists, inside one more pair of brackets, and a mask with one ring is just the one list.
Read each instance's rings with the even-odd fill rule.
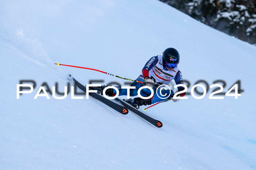
[[[142,81],[144,84],[139,82],[133,82],[131,86],[135,86],[135,89],[130,90],[130,96],[138,95],[138,89],[142,86],[149,86],[154,90],[154,96],[149,99],[142,99],[140,97],[136,97],[133,99],[127,99],[126,101],[132,104],[135,108],[139,108],[142,105],[150,105],[157,102],[173,100],[174,102],[179,101],[179,99],[174,99],[173,90],[161,90],[160,88],[157,90],[158,86],[160,85],[167,85],[174,79],[176,85],[183,84],[182,75],[180,70],[178,69],[177,65],[180,62],[180,54],[174,48],[167,48],[163,51],[163,55],[157,55],[148,60],[146,65],[142,69],[142,73],[136,79],[137,81]],[[103,89],[106,86],[101,86],[99,89],[101,90],[101,94]],[[127,89],[121,89],[121,87],[117,87],[119,90],[119,95],[127,95]],[[179,86],[178,91],[184,90],[183,87]],[[106,90],[107,96],[115,96],[116,90],[113,88]],[[157,94],[158,95],[157,95]],[[170,94],[171,93],[171,94]],[[142,89],[140,94],[143,97],[150,96],[151,90],[150,89]],[[169,95],[170,94],[170,95]],[[162,97],[159,98],[158,96]],[[165,96],[169,96],[165,98]],[[185,92],[180,94],[180,96],[185,96]]]

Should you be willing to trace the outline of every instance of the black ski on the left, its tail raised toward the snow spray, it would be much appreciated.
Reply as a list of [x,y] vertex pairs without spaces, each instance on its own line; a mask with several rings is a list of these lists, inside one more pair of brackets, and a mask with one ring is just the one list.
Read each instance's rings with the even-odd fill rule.
[[[69,77],[71,77],[71,74],[69,74]],[[74,80],[75,84],[78,86],[79,89],[81,89],[84,92],[86,92],[86,86],[84,86],[81,83],[79,83],[77,80],[75,80],[74,77],[73,77],[73,80]],[[116,110],[117,112],[122,113],[123,115],[126,115],[129,112],[126,107],[124,107],[122,105],[119,105],[117,103],[114,103],[113,101],[111,101],[111,100],[101,96],[98,93],[89,93],[89,95],[93,96],[96,99],[98,99],[102,103],[108,105],[109,107],[111,107],[112,109]]]

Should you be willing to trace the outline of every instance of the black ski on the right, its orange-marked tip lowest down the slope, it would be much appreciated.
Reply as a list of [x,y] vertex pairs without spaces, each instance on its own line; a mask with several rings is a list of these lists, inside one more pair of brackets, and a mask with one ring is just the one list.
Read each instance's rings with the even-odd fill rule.
[[144,113],[140,112],[138,109],[134,108],[129,103],[125,102],[124,100],[122,100],[120,98],[115,98],[115,100],[120,101],[121,104],[124,105],[126,108],[128,108],[130,111],[132,111],[136,115],[140,116],[144,120],[148,121],[149,123],[153,124],[155,127],[161,128],[163,126],[161,121],[155,120],[152,117],[145,115]]

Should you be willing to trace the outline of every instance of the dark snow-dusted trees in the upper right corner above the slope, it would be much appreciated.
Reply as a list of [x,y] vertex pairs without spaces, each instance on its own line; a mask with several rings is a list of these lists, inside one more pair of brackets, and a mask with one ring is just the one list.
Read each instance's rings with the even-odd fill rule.
[[256,0],[160,0],[192,18],[256,44]]

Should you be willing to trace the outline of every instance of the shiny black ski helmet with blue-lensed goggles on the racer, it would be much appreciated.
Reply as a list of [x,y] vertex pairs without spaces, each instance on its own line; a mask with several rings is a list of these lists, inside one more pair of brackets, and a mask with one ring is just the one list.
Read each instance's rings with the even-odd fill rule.
[[165,61],[169,63],[179,63],[180,62],[179,52],[174,48],[165,49],[165,51],[163,51],[163,63]]

